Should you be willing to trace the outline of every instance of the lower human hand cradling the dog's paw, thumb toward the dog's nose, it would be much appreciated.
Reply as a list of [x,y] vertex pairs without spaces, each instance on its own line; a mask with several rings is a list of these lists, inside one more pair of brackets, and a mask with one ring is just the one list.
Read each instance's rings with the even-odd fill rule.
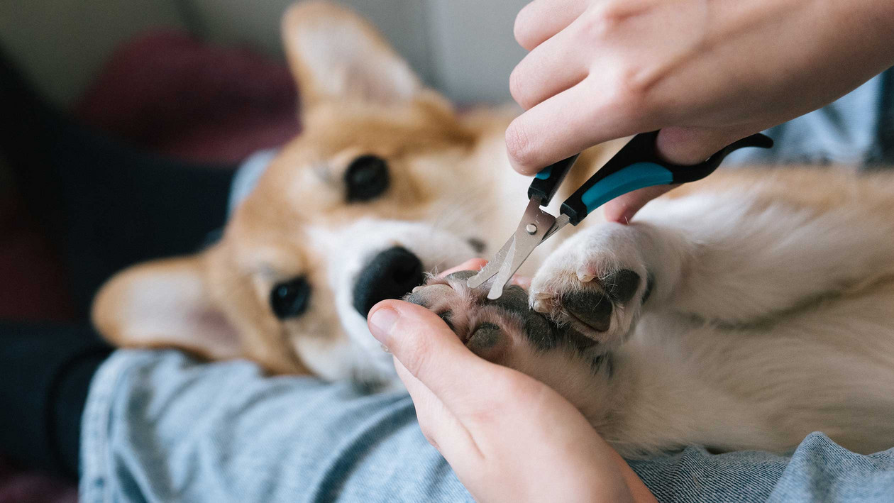
[[474,355],[436,314],[386,300],[369,329],[391,350],[426,439],[478,501],[654,501],[568,400]]

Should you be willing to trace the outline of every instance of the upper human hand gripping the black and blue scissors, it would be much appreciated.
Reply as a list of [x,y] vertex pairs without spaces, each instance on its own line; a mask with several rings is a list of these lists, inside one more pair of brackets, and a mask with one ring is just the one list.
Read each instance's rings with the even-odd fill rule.
[[[672,163],[828,105],[894,64],[894,3],[877,0],[535,0],[510,78],[527,112],[506,131],[533,174],[614,138],[659,130]],[[605,206],[626,222],[670,188]]]

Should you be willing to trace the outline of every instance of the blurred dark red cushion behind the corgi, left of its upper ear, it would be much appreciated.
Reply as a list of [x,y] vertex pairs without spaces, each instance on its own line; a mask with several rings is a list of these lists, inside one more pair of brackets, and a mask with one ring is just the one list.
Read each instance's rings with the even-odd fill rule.
[[299,132],[284,63],[171,31],[115,51],[75,113],[157,153],[205,163],[239,162]]

